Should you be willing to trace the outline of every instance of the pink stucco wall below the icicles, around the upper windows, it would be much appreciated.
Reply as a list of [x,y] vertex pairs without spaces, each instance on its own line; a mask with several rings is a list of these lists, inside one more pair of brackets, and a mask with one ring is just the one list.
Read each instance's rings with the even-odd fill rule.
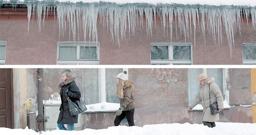
[[[164,30],[160,19],[156,26],[153,23],[152,36],[146,32],[146,21],[144,28],[137,26],[135,35],[126,32],[126,39],[118,42],[107,28],[103,28],[98,22],[98,41],[100,42],[100,64],[118,64],[118,65],[148,65],[150,64],[150,43],[151,42],[171,42],[170,32]],[[222,43],[216,44],[212,36],[206,29],[206,44],[202,35],[201,27],[196,28],[196,45],[194,45],[194,35],[192,28],[192,38],[186,42],[192,42],[192,60],[193,64],[210,65],[241,65],[242,64],[242,43],[255,43],[256,35],[253,31],[252,23],[249,26],[246,22],[242,25],[241,36],[237,31],[234,37],[234,46],[232,49],[232,58],[230,58],[230,48],[224,26],[222,26]],[[185,42],[184,36],[180,37],[180,30],[175,28],[172,34],[172,42]],[[167,34],[168,33],[168,34]],[[81,35],[80,41],[83,36]],[[41,26],[41,32],[38,32],[37,20],[30,20],[28,33],[27,15],[0,15],[0,40],[7,42],[6,64],[7,65],[55,65],[57,58],[57,42],[68,41],[68,30],[64,37],[59,38],[59,25],[54,16],[49,15],[45,20],[44,26]],[[72,34],[71,38],[72,40]],[[121,40],[121,37],[120,37]]]

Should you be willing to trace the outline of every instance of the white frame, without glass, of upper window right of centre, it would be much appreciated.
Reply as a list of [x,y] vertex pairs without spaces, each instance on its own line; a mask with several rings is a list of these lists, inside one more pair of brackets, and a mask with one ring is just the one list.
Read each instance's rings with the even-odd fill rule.
[[[192,43],[182,42],[152,42],[150,46],[168,46],[169,60],[152,60],[150,49],[150,63],[153,64],[193,64],[192,62]],[[190,58],[191,60],[173,60],[173,46],[190,46]]]

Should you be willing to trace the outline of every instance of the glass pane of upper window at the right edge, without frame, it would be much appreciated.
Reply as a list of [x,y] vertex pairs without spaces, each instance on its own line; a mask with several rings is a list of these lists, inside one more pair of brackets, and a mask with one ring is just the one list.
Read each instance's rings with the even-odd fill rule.
[[256,46],[243,46],[243,60],[256,60]]

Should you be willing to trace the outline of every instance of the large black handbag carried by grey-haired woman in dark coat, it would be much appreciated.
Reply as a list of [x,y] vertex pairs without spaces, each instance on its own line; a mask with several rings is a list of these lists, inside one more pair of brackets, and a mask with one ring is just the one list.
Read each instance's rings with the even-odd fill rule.
[[71,101],[71,99],[69,99],[67,93],[65,93],[65,95],[68,100],[68,109],[70,112],[70,116],[78,115],[87,110],[87,107],[81,98],[73,102]]

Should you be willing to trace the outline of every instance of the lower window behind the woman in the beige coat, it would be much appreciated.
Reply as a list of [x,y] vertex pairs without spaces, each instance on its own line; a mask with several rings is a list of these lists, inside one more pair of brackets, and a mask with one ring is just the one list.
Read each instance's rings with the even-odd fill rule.
[[[226,74],[227,69],[221,69],[221,68],[207,68],[207,69],[198,69],[198,68],[190,68],[189,69],[189,80],[188,80],[188,98],[189,103],[191,103],[194,98],[196,97],[196,94],[198,93],[199,89],[199,81],[197,81],[197,77],[200,73],[206,73],[206,75],[210,77],[215,78],[216,84],[220,87],[220,91],[222,92],[223,99],[228,99],[226,94]],[[201,103],[199,103],[201,104]]]

